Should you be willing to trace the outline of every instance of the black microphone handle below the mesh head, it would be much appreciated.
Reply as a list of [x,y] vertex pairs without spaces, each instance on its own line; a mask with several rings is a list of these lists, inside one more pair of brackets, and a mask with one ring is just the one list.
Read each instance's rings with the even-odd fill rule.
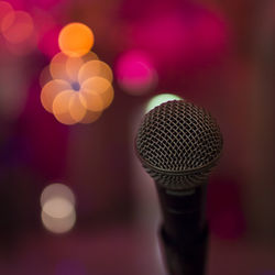
[[161,239],[170,275],[204,275],[207,257],[207,184],[170,190],[156,184],[163,212]]

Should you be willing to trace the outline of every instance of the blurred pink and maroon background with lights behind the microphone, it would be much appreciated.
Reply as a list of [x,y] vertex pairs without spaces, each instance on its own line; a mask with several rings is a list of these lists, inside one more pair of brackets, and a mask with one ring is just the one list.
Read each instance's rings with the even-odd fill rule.
[[[73,22],[87,51],[64,57]],[[108,86],[101,109],[81,94],[91,63],[98,92]],[[147,110],[183,98],[224,136],[208,274],[274,275],[274,64],[271,0],[0,1],[0,274],[165,275],[133,140]]]

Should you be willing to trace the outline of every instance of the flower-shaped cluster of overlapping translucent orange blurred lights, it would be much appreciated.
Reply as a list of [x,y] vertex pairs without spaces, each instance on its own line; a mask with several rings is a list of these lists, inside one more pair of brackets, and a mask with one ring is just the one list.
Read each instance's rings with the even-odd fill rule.
[[91,123],[113,100],[112,79],[111,68],[92,52],[58,53],[40,76],[42,106],[63,124]]

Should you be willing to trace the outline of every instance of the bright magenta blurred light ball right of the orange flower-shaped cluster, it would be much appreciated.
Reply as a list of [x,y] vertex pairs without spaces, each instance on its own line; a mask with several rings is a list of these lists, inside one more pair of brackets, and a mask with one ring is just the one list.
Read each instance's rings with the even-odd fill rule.
[[148,56],[141,51],[124,53],[117,63],[120,87],[131,95],[143,95],[157,84],[157,74]]

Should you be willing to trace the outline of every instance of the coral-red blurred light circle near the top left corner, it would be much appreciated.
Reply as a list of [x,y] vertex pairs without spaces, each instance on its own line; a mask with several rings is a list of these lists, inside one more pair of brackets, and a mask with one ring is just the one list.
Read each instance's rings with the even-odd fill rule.
[[3,18],[1,30],[9,43],[19,44],[31,37],[34,31],[34,23],[29,13],[14,11]]

